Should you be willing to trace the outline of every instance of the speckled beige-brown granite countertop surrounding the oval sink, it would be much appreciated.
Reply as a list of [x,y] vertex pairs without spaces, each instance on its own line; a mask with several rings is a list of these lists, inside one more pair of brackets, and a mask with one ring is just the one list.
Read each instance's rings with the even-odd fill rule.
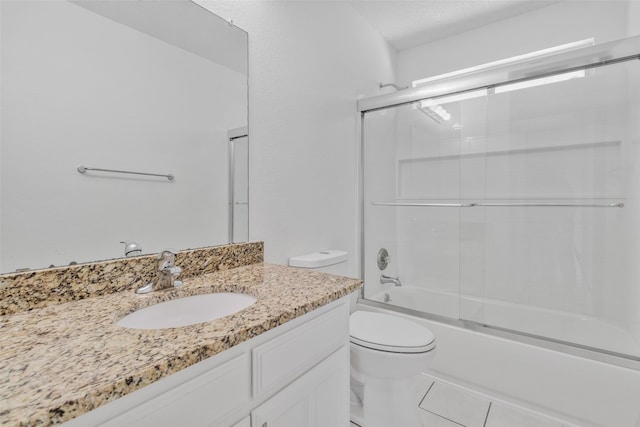
[[[360,284],[259,263],[192,277],[170,291],[122,291],[0,316],[0,424],[67,421],[348,295]],[[157,302],[229,291],[258,300],[231,316],[181,328],[116,325]]]

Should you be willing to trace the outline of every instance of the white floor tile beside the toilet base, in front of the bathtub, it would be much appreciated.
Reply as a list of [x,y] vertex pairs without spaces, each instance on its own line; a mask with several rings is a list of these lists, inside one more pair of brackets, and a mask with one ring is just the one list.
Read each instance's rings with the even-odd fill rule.
[[436,382],[420,407],[466,427],[484,427],[489,401],[463,389]]

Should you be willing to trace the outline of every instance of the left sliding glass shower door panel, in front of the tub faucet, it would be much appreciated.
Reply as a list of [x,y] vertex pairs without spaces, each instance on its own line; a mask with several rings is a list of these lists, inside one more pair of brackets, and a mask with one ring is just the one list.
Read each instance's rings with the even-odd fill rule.
[[472,203],[484,198],[485,133],[484,94],[364,114],[365,298],[451,319],[482,313],[484,223]]

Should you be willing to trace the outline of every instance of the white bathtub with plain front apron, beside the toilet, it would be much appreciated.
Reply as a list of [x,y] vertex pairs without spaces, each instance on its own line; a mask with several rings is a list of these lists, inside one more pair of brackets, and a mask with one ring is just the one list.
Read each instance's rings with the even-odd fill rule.
[[[427,311],[424,309],[427,307],[433,314],[457,310],[457,295],[454,298],[411,286],[394,287],[371,299],[383,301],[385,293],[391,303],[402,303],[413,310]],[[392,307],[386,310],[367,305],[366,301],[357,304],[357,309],[393,311]],[[516,309],[522,307],[494,304],[488,311],[496,319],[509,313],[522,317]],[[490,314],[492,310],[494,313]],[[422,323],[434,332],[437,352],[428,372],[434,376],[485,394],[494,401],[555,417],[564,425],[640,427],[638,370],[394,313]]]

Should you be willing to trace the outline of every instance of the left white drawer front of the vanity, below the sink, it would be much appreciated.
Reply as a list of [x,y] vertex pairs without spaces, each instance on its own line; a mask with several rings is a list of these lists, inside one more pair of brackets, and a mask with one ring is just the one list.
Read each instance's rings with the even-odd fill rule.
[[112,418],[104,426],[209,426],[251,398],[251,363],[242,354],[160,396]]

